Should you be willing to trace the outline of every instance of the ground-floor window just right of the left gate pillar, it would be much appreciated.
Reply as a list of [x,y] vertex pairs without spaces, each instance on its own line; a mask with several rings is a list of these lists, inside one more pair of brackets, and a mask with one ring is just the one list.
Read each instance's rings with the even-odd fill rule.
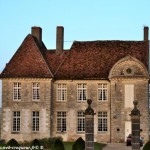
[[98,131],[107,132],[108,127],[108,116],[107,112],[98,112]]

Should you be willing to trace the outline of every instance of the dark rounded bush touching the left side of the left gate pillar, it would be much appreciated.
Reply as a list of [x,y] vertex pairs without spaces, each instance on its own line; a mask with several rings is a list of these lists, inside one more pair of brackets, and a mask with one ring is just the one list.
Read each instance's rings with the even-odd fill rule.
[[85,149],[85,142],[81,137],[79,137],[72,145],[72,150],[84,150],[84,149]]

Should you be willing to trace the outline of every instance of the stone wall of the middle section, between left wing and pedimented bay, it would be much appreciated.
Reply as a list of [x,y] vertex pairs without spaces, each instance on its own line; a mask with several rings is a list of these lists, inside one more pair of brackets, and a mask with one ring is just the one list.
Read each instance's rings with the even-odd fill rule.
[[[59,102],[56,97],[57,84],[65,83],[67,84],[67,101]],[[86,83],[87,84],[87,98],[92,99],[92,108],[96,112],[94,116],[94,140],[95,141],[110,141],[110,83],[107,80],[57,80],[54,82],[54,93],[53,93],[53,136],[62,136],[65,141],[74,141],[78,137],[85,138],[85,132],[77,131],[77,112],[85,111],[87,108],[87,101],[77,101],[77,84]],[[98,101],[97,98],[97,88],[98,83],[107,83],[108,84],[108,93],[109,99],[107,101]],[[67,112],[67,131],[66,132],[57,132],[57,111],[66,111]],[[106,111],[108,112],[108,132],[102,133],[98,132],[98,112]]]

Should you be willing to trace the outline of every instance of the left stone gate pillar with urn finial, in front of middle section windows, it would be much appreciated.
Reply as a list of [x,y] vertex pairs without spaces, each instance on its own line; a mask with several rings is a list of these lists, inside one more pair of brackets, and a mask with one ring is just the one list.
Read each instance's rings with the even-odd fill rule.
[[94,150],[94,110],[91,108],[92,100],[87,100],[85,110],[85,150]]

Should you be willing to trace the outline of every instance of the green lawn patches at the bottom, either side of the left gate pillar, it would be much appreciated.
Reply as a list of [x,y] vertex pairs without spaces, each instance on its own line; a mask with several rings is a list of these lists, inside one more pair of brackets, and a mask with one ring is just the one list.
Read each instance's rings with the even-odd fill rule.
[[[64,142],[65,150],[72,150],[73,142]],[[102,150],[105,144],[94,143],[94,150]]]

